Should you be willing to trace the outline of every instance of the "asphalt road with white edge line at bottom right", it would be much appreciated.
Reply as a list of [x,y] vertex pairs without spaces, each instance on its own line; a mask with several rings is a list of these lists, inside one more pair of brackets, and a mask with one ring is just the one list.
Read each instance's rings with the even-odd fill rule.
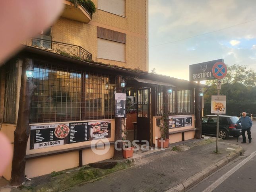
[[[190,192],[256,192],[256,121],[252,122],[252,143],[241,144],[242,136],[229,137],[223,142],[238,144],[244,149],[244,154],[231,161],[215,173],[211,174],[200,183],[190,188]],[[220,151],[221,152],[221,151]]]

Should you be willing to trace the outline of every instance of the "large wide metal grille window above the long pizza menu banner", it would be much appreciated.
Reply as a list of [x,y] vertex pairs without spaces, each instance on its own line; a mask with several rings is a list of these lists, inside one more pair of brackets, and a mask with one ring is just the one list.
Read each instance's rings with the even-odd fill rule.
[[114,77],[48,65],[34,71],[31,123],[114,118]]

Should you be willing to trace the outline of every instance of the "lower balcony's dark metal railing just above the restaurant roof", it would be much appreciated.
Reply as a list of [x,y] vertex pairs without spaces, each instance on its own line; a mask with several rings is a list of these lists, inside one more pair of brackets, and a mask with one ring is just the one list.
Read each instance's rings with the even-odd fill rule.
[[25,45],[30,47],[36,47],[43,50],[47,50],[49,52],[54,52],[57,54],[61,54],[64,56],[69,56],[72,58],[80,59],[80,60],[91,60],[92,55],[84,48],[78,45],[72,45],[68,43],[61,43],[57,41],[49,41],[46,39],[38,39],[33,38],[29,39]]

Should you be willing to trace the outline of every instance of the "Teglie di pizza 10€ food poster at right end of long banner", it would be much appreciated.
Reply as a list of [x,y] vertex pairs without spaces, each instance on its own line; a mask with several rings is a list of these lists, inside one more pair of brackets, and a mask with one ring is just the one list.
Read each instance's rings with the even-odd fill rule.
[[110,138],[111,123],[109,121],[89,122],[90,140]]

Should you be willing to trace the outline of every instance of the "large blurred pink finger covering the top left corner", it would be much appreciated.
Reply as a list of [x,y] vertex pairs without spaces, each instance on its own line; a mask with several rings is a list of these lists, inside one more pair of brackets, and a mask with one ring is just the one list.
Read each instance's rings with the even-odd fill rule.
[[21,43],[52,25],[62,0],[4,0],[0,2],[0,65]]

